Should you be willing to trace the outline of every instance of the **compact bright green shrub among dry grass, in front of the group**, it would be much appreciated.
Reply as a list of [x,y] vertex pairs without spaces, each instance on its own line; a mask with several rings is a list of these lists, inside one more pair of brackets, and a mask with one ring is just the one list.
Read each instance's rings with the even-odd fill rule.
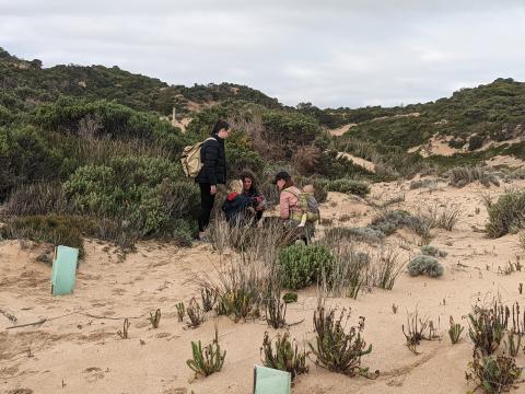
[[331,271],[334,257],[322,245],[292,245],[281,251],[279,265],[282,286],[298,290],[320,280],[323,273],[326,277]]

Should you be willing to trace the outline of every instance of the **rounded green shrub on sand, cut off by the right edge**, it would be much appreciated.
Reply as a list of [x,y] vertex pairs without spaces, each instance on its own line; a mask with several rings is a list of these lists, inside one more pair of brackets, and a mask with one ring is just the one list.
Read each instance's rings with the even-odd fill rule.
[[499,237],[525,228],[525,192],[509,192],[489,207],[487,233]]

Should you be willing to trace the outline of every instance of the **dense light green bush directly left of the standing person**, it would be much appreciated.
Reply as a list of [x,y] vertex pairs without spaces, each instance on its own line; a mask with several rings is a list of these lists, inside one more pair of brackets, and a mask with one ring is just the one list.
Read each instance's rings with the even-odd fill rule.
[[125,158],[80,167],[63,187],[80,212],[125,219],[152,235],[197,215],[197,187],[179,178],[178,165],[165,159]]

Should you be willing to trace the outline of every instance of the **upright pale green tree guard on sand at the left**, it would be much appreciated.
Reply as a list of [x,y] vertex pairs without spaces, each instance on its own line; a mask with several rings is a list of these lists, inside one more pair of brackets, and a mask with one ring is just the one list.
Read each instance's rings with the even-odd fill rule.
[[51,274],[51,293],[52,296],[70,294],[74,288],[79,250],[60,245],[55,251]]

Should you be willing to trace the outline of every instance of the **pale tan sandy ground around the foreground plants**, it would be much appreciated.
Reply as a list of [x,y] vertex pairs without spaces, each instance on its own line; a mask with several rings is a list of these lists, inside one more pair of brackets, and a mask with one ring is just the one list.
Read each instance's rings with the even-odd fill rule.
[[[525,182],[513,184],[525,187]],[[408,182],[377,184],[372,197],[387,199],[405,194],[399,208],[413,210],[417,205],[458,204],[464,217],[452,232],[434,230],[433,245],[448,252],[441,262],[445,274],[439,279],[411,278],[405,271],[392,291],[372,289],[357,300],[331,299],[331,304],[350,306],[352,323],[366,316],[365,339],[373,344],[363,364],[380,370],[376,380],[348,378],[330,373],[313,361],[311,372],[300,376],[293,393],[465,393],[467,362],[471,343],[463,339],[452,345],[446,331],[448,317],[467,325],[462,316],[470,306],[500,294],[511,304],[523,305],[525,296],[518,285],[525,273],[498,274],[498,267],[523,258],[516,235],[486,239],[481,229],[487,213],[481,193],[497,196],[500,188],[471,184],[462,189],[444,183],[431,189],[409,189]],[[477,211],[479,208],[479,212]],[[330,194],[323,217],[332,225],[362,225],[370,222],[374,208],[365,201]],[[474,228],[472,228],[474,227]],[[418,237],[401,231],[388,239],[399,258],[407,262],[417,254]],[[38,263],[42,246],[26,242],[0,242],[0,309],[18,318],[16,324],[47,318],[39,326],[5,329],[13,325],[0,314],[0,393],[252,393],[253,366],[259,363],[259,347],[265,331],[275,334],[264,321],[233,323],[228,317],[208,321],[196,329],[186,329],[176,317],[175,304],[197,296],[190,282],[199,273],[213,271],[220,257],[208,245],[177,248],[170,244],[141,243],[138,252],[125,259],[117,251],[96,241],[86,241],[86,257],[80,264],[74,293],[50,294],[49,265]],[[458,265],[460,264],[460,265]],[[398,306],[394,314],[392,305]],[[300,300],[289,306],[287,321],[304,322],[290,328],[300,343],[313,338],[312,315],[316,290],[300,292]],[[162,310],[159,329],[150,328],[147,315]],[[425,341],[415,356],[404,345],[401,324],[407,311],[418,308],[431,318],[443,335],[442,340]],[[122,318],[130,317],[129,339],[116,332]],[[186,366],[190,341],[212,339],[218,324],[220,344],[226,349],[221,372],[192,380]],[[517,358],[525,366],[525,356]],[[14,391],[26,389],[27,391]],[[516,391],[524,393],[525,385]]]

